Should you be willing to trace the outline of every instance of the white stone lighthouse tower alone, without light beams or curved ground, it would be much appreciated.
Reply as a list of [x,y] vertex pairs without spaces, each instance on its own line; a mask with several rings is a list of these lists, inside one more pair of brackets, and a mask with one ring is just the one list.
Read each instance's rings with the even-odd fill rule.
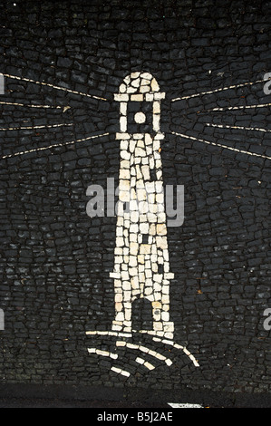
[[[165,93],[150,73],[131,73],[114,99],[120,102],[119,202],[114,250],[115,318],[112,330],[131,333],[132,304],[150,302],[152,334],[173,338],[169,321],[169,250],[160,140]],[[137,330],[144,332],[144,330]]]

